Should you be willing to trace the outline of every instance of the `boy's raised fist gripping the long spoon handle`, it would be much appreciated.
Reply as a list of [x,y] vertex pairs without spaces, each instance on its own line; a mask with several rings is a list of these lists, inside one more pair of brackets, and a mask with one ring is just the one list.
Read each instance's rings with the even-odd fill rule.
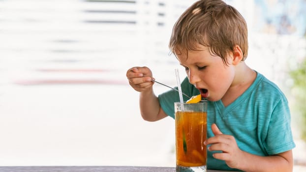
[[151,82],[152,72],[148,67],[133,67],[128,69],[126,77],[129,85],[136,91],[142,92],[152,87],[154,82]]

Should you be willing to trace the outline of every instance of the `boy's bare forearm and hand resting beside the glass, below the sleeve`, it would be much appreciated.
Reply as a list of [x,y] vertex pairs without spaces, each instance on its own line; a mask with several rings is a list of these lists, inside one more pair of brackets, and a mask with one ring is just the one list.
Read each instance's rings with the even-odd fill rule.
[[215,136],[205,141],[205,144],[212,144],[209,151],[221,150],[222,153],[215,153],[213,156],[224,160],[230,168],[245,172],[292,172],[292,150],[266,157],[257,156],[241,150],[235,138],[222,134],[215,124],[212,125],[212,130]]

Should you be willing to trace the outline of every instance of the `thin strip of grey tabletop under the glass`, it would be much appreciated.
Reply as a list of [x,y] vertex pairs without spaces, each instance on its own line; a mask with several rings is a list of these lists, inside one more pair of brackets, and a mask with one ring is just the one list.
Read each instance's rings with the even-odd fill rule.
[[[0,172],[175,172],[175,168],[134,166],[2,166],[0,167]],[[208,170],[207,172],[226,171]]]

